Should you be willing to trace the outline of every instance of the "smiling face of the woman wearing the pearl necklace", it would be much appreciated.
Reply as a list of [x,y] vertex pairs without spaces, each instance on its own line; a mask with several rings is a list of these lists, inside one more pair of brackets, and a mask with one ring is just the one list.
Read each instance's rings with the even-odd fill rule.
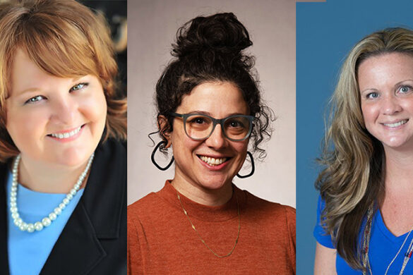
[[93,75],[57,78],[16,51],[6,99],[6,128],[22,160],[85,163],[102,137],[107,104]]

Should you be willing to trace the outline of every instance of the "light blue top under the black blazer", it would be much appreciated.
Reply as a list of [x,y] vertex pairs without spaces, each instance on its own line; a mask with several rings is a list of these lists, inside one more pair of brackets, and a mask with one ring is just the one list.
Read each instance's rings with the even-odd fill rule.
[[[63,231],[66,222],[83,195],[83,189],[73,196],[71,202],[52,221],[50,226],[43,228],[42,231],[28,233],[20,231],[13,224],[10,212],[10,190],[12,176],[8,173],[7,181],[7,208],[8,208],[8,264],[11,275],[31,275],[40,274],[44,263],[49,257],[50,252]],[[39,193],[18,185],[17,188],[17,207],[20,217],[26,223],[35,223],[48,216],[54,208],[58,207],[66,194]],[[61,259],[64,261],[65,259]],[[76,264],[76,263],[73,263]]]

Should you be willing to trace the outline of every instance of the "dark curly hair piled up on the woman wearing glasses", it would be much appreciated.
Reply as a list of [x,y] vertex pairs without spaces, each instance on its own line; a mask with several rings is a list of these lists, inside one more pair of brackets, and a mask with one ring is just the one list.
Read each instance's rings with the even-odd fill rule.
[[156,85],[157,116],[167,118],[163,128],[158,123],[163,140],[164,133],[173,130],[170,113],[176,111],[184,95],[203,82],[232,82],[241,91],[250,115],[256,117],[251,133],[253,150],[259,153],[258,158],[265,157],[265,150],[258,145],[271,136],[273,111],[261,101],[253,56],[243,53],[252,44],[234,13],[200,16],[179,28],[176,44],[172,44],[176,59],[165,68]]

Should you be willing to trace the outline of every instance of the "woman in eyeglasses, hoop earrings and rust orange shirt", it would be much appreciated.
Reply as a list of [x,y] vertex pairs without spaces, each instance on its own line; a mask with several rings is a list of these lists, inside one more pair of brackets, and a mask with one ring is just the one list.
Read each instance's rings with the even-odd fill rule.
[[[232,13],[181,27],[156,85],[162,141],[152,161],[175,174],[128,207],[128,274],[294,274],[295,211],[240,190],[273,116],[251,73],[252,44]],[[250,147],[253,152],[248,151]],[[166,166],[157,150],[172,150]],[[239,174],[246,157],[251,172]]]

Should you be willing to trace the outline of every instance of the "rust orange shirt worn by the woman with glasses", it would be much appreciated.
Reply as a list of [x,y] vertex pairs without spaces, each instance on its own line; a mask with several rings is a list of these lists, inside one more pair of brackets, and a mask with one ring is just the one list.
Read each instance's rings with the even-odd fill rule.
[[[201,242],[167,181],[128,207],[128,274],[295,274],[295,209],[235,185],[226,204],[208,207],[180,195]],[[238,206],[237,206],[238,205]]]

